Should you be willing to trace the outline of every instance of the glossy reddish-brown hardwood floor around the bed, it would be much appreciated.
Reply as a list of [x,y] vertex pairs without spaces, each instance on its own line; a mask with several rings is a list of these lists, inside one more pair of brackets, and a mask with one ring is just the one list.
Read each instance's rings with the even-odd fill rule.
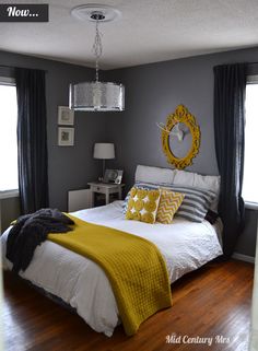
[[[78,315],[5,272],[4,350],[245,351],[248,350],[253,276],[250,264],[237,260],[209,264],[174,283],[173,307],[149,318],[134,337],[128,338],[120,326],[107,338],[93,331]],[[171,343],[166,343],[167,336]]]

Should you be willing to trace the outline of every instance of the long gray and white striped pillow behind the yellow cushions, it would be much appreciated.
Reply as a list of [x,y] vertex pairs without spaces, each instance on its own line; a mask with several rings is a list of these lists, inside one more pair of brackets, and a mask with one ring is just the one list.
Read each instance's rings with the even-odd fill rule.
[[[137,183],[134,187],[143,189],[166,188],[176,192],[185,194],[181,206],[177,210],[175,217],[185,218],[191,222],[202,222],[209,210],[212,201],[215,199],[215,192],[211,190],[203,190],[194,187],[178,186],[178,185],[163,185]],[[125,199],[124,211],[127,210],[128,196]]]

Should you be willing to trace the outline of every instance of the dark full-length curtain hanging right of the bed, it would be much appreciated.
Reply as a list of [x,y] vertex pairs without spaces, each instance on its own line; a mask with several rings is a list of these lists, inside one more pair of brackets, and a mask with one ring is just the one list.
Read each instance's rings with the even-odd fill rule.
[[219,213],[224,224],[223,250],[233,254],[244,227],[242,183],[245,148],[246,65],[214,67],[215,151],[221,175]]

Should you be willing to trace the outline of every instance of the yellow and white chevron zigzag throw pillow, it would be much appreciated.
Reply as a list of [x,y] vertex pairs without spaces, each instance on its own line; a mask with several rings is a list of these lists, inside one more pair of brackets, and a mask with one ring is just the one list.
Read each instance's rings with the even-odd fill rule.
[[171,224],[179,209],[185,194],[161,189],[161,200],[156,213],[156,222]]

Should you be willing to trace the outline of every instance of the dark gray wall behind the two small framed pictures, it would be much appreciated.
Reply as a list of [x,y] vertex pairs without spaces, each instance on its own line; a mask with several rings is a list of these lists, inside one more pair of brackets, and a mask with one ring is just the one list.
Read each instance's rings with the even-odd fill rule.
[[[68,105],[69,83],[92,80],[94,70],[51,60],[0,51],[0,65],[46,70],[48,175],[50,207],[67,210],[67,191],[85,188],[101,173],[93,144],[106,141],[103,114],[75,113],[74,147],[57,145],[58,105]],[[8,209],[5,209],[8,211]]]

